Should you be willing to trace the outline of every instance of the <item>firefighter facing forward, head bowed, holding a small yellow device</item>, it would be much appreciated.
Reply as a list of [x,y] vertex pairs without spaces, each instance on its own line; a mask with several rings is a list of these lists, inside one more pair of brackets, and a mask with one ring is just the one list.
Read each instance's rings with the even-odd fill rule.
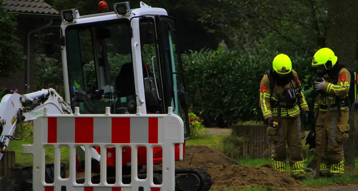
[[[297,73],[292,70],[290,58],[277,55],[272,69],[265,72],[260,84],[260,108],[269,124],[267,136],[272,144],[272,165],[281,173],[286,172],[286,143],[290,152],[291,176],[305,179],[300,114],[308,122],[308,105],[305,100]],[[301,112],[302,110],[302,112]],[[274,126],[274,122],[278,125]]]

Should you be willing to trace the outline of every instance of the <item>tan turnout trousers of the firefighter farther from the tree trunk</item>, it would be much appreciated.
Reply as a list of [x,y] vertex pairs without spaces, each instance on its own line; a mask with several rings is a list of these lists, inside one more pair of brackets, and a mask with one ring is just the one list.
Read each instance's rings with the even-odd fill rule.
[[[274,117],[275,121],[277,120]],[[282,117],[279,127],[269,126],[267,138],[272,145],[272,165],[282,173],[286,172],[286,144],[289,148],[291,175],[305,174],[303,169],[302,139],[305,135],[301,128],[300,116]]]

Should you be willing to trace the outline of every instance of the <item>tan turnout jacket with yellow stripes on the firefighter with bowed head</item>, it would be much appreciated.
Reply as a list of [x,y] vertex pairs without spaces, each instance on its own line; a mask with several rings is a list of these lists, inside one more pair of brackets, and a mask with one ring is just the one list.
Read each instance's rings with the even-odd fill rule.
[[[300,80],[298,79],[297,73],[295,70],[291,70],[293,77],[297,79],[297,82],[301,85]],[[277,79],[279,80],[279,79]],[[265,120],[272,116],[277,116],[278,105],[281,106],[281,117],[296,117],[300,114],[300,108],[303,112],[308,111],[308,105],[305,99],[305,96],[302,91],[299,91],[300,96],[297,97],[296,104],[290,107],[287,107],[287,104],[281,100],[282,93],[285,89],[288,88],[297,88],[296,81],[292,79],[286,85],[279,86],[277,85],[277,80],[275,80],[275,87],[273,90],[270,89],[270,79],[267,74],[263,75],[260,83],[260,108]],[[279,101],[280,99],[280,101]],[[279,101],[279,102],[278,102]],[[275,104],[276,102],[276,104]],[[277,103],[278,102],[278,103]],[[297,104],[298,102],[298,104]]]

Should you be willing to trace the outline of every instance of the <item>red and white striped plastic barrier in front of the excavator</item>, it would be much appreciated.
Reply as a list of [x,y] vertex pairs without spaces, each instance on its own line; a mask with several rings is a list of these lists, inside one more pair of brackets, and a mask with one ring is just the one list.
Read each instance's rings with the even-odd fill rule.
[[[74,114],[48,114],[47,108],[43,116],[34,121],[34,143],[23,145],[24,154],[33,154],[33,190],[60,191],[66,186],[66,191],[174,191],[175,188],[175,158],[174,145],[179,143],[179,158],[183,160],[184,123],[173,114],[169,107],[168,114],[79,114],[75,108]],[[45,183],[45,146],[55,148],[54,183]],[[61,147],[69,146],[69,178],[60,177]],[[85,183],[76,183],[76,147],[85,147]],[[115,184],[106,181],[106,158],[101,157],[101,181],[91,182],[91,152],[97,152],[92,147],[99,146],[101,151],[106,147],[131,148],[131,158],[137,158],[137,148],[147,149],[147,178],[137,178],[137,160],[131,161],[131,183],[122,183],[122,176],[116,176]],[[153,183],[153,147],[163,149],[163,183]],[[121,152],[116,153],[116,164],[122,164]],[[116,165],[116,175],[122,175],[122,165]]]

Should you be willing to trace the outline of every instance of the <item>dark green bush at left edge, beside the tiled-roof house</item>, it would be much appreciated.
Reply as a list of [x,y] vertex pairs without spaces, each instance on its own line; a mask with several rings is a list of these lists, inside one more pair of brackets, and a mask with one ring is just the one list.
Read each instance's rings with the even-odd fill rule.
[[[0,5],[3,0],[0,0]],[[24,69],[24,57],[21,53],[22,46],[16,37],[17,23],[14,13],[0,9],[0,75],[6,75],[15,70]]]

